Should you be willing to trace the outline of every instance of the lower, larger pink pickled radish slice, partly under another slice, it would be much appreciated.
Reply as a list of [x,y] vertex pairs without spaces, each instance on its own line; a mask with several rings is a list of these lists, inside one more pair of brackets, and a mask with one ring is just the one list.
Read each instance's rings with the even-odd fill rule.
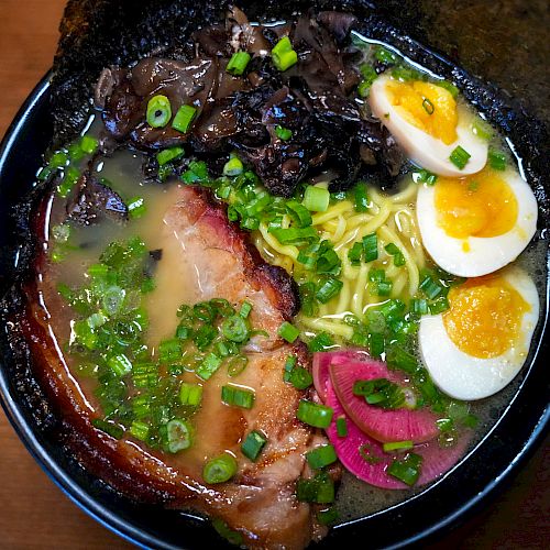
[[[346,416],[330,383],[327,386],[326,404],[334,410],[334,419]],[[392,462],[395,459],[403,458],[406,452],[386,453],[382,444],[363,433],[351,418],[346,417],[346,437],[341,438],[338,436],[336,421],[327,429],[329,440],[334,446],[338,458],[345,469],[360,480],[376,487],[410,488],[386,473]],[[416,486],[426,485],[448,472],[464,454],[469,440],[469,433],[462,433],[458,443],[449,449],[441,449],[438,441],[432,440],[428,443],[417,444],[410,451],[407,451],[422,457],[420,476]]]

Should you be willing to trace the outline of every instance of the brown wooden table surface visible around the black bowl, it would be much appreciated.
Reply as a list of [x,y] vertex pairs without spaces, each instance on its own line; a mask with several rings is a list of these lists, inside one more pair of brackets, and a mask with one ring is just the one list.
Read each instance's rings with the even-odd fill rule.
[[[0,0],[0,135],[52,64],[64,0]],[[548,548],[550,446],[485,512],[432,548]],[[42,472],[0,410],[0,548],[125,549]]]

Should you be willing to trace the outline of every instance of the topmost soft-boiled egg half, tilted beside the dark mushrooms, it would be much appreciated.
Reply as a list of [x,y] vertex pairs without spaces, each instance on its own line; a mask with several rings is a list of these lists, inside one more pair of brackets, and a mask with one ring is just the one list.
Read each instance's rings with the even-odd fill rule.
[[[487,142],[472,132],[471,116],[441,86],[400,81],[383,75],[370,92],[371,110],[415,163],[441,176],[480,172],[487,162]],[[459,168],[451,162],[457,147],[470,157]]]

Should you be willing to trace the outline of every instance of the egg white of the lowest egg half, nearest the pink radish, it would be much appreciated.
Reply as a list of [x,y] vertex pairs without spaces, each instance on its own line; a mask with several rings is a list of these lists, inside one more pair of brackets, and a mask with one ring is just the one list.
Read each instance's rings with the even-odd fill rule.
[[539,318],[537,288],[518,267],[508,267],[502,275],[530,306],[521,318],[517,345],[502,355],[480,359],[461,351],[449,338],[442,314],[420,320],[418,339],[426,369],[436,385],[455,399],[482,399],[496,394],[516,377],[529,353]]

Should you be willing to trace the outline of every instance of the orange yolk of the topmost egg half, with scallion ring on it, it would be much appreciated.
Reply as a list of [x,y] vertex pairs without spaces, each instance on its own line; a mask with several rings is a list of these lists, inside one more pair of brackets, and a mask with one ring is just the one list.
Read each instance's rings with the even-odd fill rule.
[[448,90],[429,82],[388,80],[386,94],[389,102],[409,124],[441,140],[446,145],[457,141],[457,101]]

